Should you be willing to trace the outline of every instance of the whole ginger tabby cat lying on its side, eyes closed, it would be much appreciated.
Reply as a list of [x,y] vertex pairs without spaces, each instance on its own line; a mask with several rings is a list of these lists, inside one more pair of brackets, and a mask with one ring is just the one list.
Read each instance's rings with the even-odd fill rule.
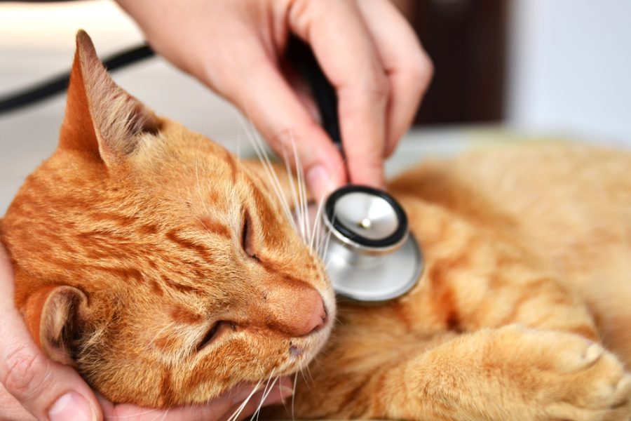
[[33,338],[112,401],[201,403],[313,360],[297,417],[628,421],[629,168],[581,146],[424,163],[388,187],[419,284],[336,316],[259,168],[156,117],[79,32],[59,147],[1,239]]

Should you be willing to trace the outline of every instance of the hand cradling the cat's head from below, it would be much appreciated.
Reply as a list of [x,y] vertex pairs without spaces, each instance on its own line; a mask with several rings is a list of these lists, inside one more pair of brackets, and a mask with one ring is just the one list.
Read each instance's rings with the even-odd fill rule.
[[[242,385],[202,406],[152,410],[114,405],[95,396],[76,371],[51,361],[41,352],[13,305],[13,270],[0,244],[0,419],[1,420],[203,420],[227,419],[250,396],[253,385]],[[292,392],[281,379],[264,405],[282,401]],[[255,392],[240,417],[255,412],[263,391]],[[239,418],[240,419],[240,418]]]

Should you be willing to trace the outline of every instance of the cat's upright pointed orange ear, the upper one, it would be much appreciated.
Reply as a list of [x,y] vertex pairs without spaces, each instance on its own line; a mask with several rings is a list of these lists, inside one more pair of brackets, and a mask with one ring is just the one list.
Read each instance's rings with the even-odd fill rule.
[[76,34],[60,149],[82,152],[112,166],[136,149],[142,134],[156,134],[160,125],[150,109],[114,83],[90,36],[80,30]]

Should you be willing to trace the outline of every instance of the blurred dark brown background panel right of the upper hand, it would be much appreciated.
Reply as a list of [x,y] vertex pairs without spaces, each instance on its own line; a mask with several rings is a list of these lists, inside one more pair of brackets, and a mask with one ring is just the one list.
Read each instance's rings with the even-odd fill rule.
[[509,0],[407,1],[434,64],[416,124],[498,123],[506,102]]

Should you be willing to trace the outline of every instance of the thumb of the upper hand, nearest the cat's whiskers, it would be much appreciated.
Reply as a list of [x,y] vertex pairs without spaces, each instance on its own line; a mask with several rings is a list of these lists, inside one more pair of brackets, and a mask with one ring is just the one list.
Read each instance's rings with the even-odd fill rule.
[[[346,182],[344,161],[319,124],[257,42],[236,46],[233,77],[222,78],[222,93],[252,120],[269,145],[296,166],[294,149],[310,191],[320,199]],[[236,69],[236,70],[235,70]],[[225,70],[224,70],[225,71]]]

